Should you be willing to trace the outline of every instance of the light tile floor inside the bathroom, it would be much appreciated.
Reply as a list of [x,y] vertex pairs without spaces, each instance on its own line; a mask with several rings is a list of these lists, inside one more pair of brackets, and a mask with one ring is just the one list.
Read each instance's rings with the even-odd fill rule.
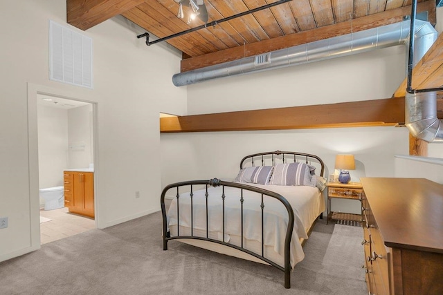
[[42,244],[96,228],[95,220],[69,213],[66,207],[48,211],[40,210],[40,216],[51,219],[51,221],[40,223]]

